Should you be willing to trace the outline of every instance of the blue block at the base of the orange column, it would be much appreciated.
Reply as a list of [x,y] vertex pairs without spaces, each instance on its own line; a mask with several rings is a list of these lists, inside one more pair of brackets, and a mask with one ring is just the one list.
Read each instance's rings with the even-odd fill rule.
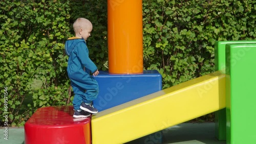
[[93,105],[99,111],[162,90],[162,76],[157,70],[144,70],[140,75],[112,75],[100,71],[95,79],[99,95]]

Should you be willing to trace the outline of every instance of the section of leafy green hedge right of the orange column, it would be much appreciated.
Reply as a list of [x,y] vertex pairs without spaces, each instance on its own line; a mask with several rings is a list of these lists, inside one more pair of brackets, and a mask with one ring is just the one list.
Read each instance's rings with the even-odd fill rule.
[[144,67],[167,88],[214,71],[216,40],[256,37],[252,1],[143,1]]

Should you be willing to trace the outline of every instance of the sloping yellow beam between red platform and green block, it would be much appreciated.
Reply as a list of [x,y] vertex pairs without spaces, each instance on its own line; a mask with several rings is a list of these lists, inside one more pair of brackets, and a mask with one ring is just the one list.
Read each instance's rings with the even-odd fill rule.
[[94,114],[92,143],[124,143],[225,106],[225,75],[217,71]]

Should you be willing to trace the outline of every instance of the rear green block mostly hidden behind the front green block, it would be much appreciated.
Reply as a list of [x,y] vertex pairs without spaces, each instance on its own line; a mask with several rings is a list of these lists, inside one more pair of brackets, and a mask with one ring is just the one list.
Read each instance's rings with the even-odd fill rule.
[[[216,41],[215,42],[215,70],[226,68],[226,44],[256,43],[256,41]],[[215,136],[219,140],[226,140],[226,109],[215,112]]]

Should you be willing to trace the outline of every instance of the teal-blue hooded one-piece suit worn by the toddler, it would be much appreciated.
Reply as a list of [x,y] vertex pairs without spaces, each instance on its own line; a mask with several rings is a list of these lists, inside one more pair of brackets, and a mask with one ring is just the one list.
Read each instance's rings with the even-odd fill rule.
[[83,38],[69,38],[65,43],[65,51],[69,56],[68,76],[75,93],[73,106],[78,110],[82,102],[90,104],[97,98],[98,83],[91,75],[97,70],[97,66],[89,58],[89,51]]

